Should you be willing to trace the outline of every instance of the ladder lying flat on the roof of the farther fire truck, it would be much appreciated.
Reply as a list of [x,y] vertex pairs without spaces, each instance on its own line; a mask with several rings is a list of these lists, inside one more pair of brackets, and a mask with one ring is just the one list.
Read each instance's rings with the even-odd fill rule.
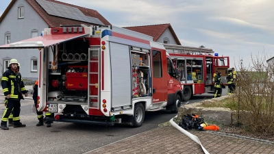
[[186,47],[177,44],[163,44],[166,48],[167,53],[182,53],[186,55],[204,55],[214,53],[212,49],[207,49],[204,47]]

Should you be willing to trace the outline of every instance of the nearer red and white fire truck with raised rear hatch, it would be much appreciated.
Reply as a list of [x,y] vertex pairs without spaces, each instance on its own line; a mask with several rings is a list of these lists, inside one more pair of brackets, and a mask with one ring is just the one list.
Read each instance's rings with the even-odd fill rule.
[[37,108],[49,121],[140,127],[145,111],[176,113],[182,101],[169,53],[136,31],[62,25],[0,49],[38,49]]

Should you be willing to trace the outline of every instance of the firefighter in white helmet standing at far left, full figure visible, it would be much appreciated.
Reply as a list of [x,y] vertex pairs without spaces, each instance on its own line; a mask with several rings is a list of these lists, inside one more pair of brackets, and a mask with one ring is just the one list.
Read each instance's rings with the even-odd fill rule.
[[23,125],[20,122],[20,100],[24,99],[22,96],[22,93],[25,94],[25,97],[27,97],[27,90],[25,89],[25,85],[23,83],[23,79],[17,72],[17,66],[18,62],[15,59],[10,60],[10,64],[8,67],[8,70],[3,73],[1,85],[3,88],[3,93],[5,97],[8,99],[7,106],[5,108],[5,111],[3,113],[3,117],[1,119],[1,129],[8,130],[8,117],[12,113],[12,110],[14,112],[13,114],[13,123],[14,128],[16,127],[25,127],[26,125]]

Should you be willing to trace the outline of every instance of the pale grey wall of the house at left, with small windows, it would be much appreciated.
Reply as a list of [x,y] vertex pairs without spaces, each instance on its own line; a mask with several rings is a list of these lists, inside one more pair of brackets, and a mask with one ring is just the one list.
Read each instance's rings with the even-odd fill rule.
[[[24,18],[18,18],[18,6],[24,6]],[[5,44],[5,32],[10,31],[11,42],[31,38],[32,30],[38,30],[38,36],[44,28],[49,27],[37,12],[25,0],[17,0],[3,21],[0,23],[0,45]],[[31,72],[31,58],[37,58],[38,49],[5,49],[0,50],[0,76],[3,75],[3,60],[15,58],[21,64],[23,79],[38,79],[38,72]]]

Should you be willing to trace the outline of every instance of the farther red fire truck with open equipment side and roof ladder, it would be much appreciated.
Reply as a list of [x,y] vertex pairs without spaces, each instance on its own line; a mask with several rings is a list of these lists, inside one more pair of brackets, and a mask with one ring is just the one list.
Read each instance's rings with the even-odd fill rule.
[[[195,94],[214,93],[214,75],[221,71],[221,80],[227,85],[229,57],[219,56],[212,49],[204,47],[184,47],[164,44],[173,64],[179,69],[179,81],[183,89],[183,100]],[[213,95],[212,95],[213,97]]]

